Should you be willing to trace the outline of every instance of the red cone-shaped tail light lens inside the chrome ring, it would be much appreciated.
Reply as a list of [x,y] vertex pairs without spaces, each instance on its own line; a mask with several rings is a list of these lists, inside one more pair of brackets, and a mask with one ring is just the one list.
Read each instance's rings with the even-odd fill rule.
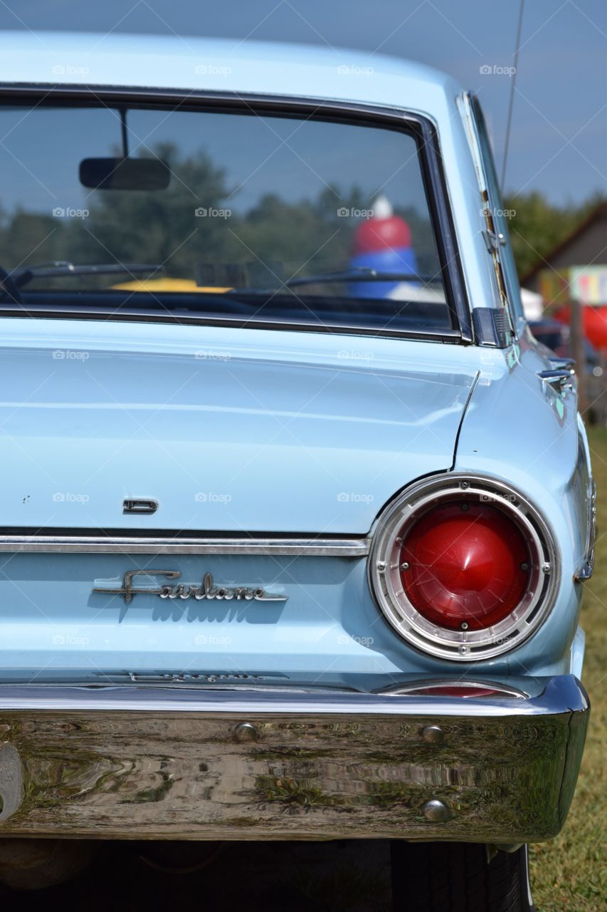
[[406,535],[401,579],[411,604],[439,627],[481,630],[508,617],[530,578],[520,529],[484,503],[430,510]]

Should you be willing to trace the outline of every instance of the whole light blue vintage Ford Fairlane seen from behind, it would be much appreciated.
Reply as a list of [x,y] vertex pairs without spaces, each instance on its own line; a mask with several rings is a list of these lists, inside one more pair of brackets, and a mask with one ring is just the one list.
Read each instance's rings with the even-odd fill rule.
[[0,861],[373,837],[395,909],[529,910],[594,495],[477,100],[49,33],[0,91]]

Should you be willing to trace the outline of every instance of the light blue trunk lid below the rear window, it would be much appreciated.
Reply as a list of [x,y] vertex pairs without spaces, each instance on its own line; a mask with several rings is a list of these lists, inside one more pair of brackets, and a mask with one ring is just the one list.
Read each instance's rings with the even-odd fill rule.
[[5,527],[366,534],[450,468],[477,369],[440,344],[25,320],[0,374]]

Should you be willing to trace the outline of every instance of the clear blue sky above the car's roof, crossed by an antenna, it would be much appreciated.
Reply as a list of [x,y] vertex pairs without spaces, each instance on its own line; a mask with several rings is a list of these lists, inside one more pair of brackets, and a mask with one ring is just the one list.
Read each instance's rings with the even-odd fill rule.
[[[0,28],[153,32],[359,47],[478,92],[499,171],[519,0],[0,0]],[[490,67],[485,75],[480,67]],[[506,186],[607,194],[607,2],[526,0]]]

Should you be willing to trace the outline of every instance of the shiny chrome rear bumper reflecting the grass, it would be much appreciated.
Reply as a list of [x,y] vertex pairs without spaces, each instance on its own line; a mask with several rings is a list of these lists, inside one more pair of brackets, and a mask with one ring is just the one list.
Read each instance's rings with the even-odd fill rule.
[[0,834],[537,841],[588,712],[570,675],[523,700],[3,685]]

